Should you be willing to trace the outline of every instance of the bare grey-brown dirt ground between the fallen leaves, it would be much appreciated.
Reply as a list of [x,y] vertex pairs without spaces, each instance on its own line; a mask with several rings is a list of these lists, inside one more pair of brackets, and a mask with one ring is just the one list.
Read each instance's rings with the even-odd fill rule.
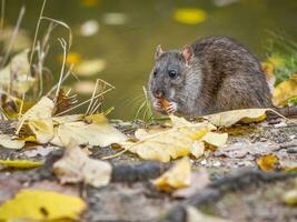
[[[118,127],[126,133],[133,131],[128,123]],[[187,221],[182,211],[178,214],[177,210],[172,220],[168,215],[175,209],[189,204],[236,222],[297,221],[296,206],[288,206],[281,201],[284,192],[296,186],[296,174],[281,172],[266,176],[256,163],[259,157],[274,153],[283,165],[296,165],[297,120],[277,119],[221,131],[229,133],[228,144],[216,151],[210,148],[204,158],[192,160],[195,168],[207,169],[211,183],[188,200],[175,199],[156,191],[151,185],[150,180],[165,172],[169,164],[142,161],[130,153],[108,160],[113,165],[113,172],[111,183],[107,186],[96,189],[83,184],[61,185],[53,175],[51,165],[62,157],[63,150],[32,145],[20,151],[0,149],[2,160],[30,159],[46,162],[43,167],[32,170],[3,168],[0,171],[0,203],[11,199],[21,189],[43,189],[82,196],[89,204],[82,220],[88,222]],[[118,152],[112,148],[95,148],[90,151],[93,159]],[[248,173],[241,173],[242,169]],[[225,180],[230,173],[237,173],[237,178]]]

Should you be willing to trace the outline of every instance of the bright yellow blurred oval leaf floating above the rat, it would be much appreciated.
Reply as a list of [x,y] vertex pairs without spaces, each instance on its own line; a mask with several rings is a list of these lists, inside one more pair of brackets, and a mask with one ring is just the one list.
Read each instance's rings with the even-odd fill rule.
[[186,24],[201,23],[207,19],[207,14],[201,9],[185,8],[175,12],[175,20]]

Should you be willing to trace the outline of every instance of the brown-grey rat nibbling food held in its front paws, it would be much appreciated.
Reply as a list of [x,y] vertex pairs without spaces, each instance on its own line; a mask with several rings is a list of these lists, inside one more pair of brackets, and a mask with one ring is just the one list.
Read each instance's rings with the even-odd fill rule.
[[207,37],[181,50],[164,51],[158,46],[155,60],[148,93],[157,112],[196,118],[228,110],[274,108],[284,115],[297,114],[297,108],[274,107],[259,60],[231,38]]

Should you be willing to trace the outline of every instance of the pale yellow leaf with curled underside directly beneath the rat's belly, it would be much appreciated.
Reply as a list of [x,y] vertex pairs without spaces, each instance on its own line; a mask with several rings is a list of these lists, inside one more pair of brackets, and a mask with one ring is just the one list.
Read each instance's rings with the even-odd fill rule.
[[216,127],[228,128],[239,121],[245,123],[263,121],[266,119],[266,111],[268,111],[268,109],[231,110],[206,115],[204,118]]

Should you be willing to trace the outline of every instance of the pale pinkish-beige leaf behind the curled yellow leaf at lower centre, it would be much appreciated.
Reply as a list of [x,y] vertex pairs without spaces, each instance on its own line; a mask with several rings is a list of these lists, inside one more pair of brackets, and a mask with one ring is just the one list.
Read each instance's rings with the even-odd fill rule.
[[206,169],[199,169],[190,175],[190,185],[188,188],[182,188],[174,191],[172,195],[175,198],[190,198],[198,191],[205,189],[209,184],[209,174]]

